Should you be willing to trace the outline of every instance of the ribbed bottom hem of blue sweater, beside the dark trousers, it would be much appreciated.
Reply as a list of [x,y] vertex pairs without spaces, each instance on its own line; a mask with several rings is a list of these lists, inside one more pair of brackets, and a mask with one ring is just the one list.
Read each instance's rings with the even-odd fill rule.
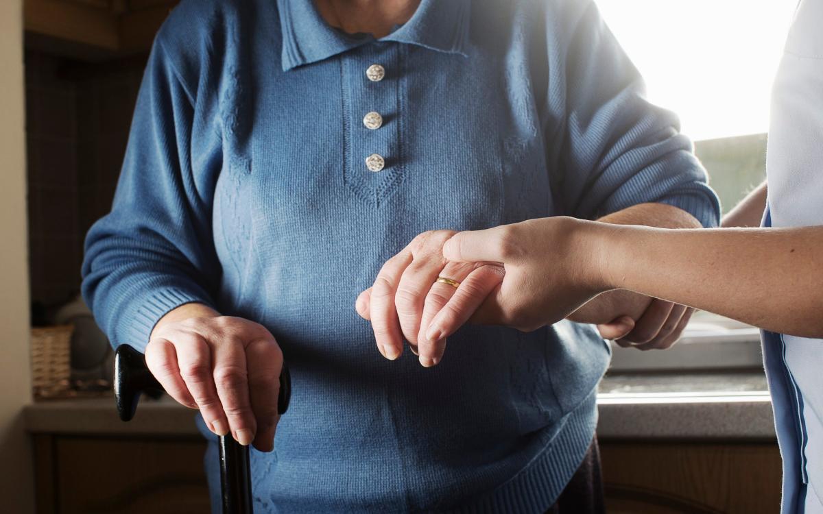
[[546,512],[583,461],[597,428],[597,388],[565,419],[542,455],[464,512]]

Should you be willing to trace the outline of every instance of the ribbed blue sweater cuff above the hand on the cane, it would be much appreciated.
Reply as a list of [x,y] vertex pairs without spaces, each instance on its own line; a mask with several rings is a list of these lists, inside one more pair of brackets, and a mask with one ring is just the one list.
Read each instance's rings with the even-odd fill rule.
[[149,343],[149,336],[154,330],[157,322],[167,313],[186,303],[203,303],[211,305],[212,302],[202,298],[201,295],[193,294],[185,289],[176,287],[163,287],[152,289],[151,293],[139,299],[136,303],[131,319],[120,320],[122,323],[122,337],[113,341],[115,345],[128,343],[136,350],[144,352]]

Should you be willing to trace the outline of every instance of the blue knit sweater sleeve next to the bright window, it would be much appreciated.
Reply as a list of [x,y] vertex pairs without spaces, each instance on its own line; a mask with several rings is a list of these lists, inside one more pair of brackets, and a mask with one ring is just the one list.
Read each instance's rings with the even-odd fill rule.
[[[677,206],[706,227],[719,201],[680,133],[677,115],[650,104],[643,78],[597,11],[578,14],[565,47],[565,134],[558,204],[565,214],[596,219],[643,202]],[[661,43],[663,44],[663,43]]]

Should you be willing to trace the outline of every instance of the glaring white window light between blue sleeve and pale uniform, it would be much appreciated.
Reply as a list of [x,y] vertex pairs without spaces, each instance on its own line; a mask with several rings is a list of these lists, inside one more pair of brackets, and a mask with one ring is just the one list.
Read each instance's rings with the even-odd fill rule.
[[596,0],[649,100],[695,141],[767,132],[797,0]]

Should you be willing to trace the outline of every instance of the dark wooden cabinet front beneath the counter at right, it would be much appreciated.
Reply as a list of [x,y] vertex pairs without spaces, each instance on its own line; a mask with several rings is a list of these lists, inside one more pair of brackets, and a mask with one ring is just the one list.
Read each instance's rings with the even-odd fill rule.
[[601,442],[609,514],[774,514],[775,442]]

